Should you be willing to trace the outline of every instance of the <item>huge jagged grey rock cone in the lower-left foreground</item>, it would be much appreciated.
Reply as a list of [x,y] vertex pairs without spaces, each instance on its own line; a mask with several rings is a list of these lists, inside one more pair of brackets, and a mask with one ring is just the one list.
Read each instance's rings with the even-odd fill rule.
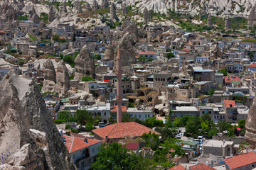
[[36,83],[12,69],[0,87],[0,169],[77,169]]

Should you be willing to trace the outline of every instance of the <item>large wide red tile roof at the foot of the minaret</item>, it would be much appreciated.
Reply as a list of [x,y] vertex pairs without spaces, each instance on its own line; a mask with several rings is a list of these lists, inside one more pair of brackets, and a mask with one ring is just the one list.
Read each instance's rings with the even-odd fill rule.
[[144,132],[149,133],[150,131],[160,135],[159,132],[135,122],[115,123],[113,125],[105,126],[104,128],[92,130],[92,132],[95,132],[103,139],[105,139],[106,136],[109,139],[122,138],[126,136],[142,137]]

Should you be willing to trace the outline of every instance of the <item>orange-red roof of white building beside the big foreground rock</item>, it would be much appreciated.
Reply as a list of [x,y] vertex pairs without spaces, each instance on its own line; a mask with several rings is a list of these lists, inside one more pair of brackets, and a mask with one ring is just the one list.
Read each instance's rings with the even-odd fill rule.
[[83,149],[85,147],[90,147],[91,145],[95,145],[97,143],[102,142],[100,140],[87,139],[87,143],[85,143],[84,138],[70,137],[65,135],[63,135],[63,137],[65,137],[65,141],[66,141],[65,146],[68,148],[69,153],[72,153],[80,149]]

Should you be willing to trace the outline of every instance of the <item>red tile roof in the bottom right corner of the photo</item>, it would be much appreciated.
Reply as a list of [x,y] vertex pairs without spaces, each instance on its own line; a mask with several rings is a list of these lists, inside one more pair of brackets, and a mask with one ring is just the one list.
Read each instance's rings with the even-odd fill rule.
[[255,163],[256,154],[254,152],[247,152],[246,154],[240,154],[235,157],[224,159],[224,161],[230,169],[237,169],[238,167]]

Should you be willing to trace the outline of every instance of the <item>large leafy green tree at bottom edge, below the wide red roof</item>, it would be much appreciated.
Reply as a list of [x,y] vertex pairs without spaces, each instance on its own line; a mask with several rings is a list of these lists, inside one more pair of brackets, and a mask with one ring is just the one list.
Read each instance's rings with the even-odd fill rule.
[[92,169],[137,169],[139,157],[129,149],[116,142],[101,145],[97,153],[97,159],[92,164]]

